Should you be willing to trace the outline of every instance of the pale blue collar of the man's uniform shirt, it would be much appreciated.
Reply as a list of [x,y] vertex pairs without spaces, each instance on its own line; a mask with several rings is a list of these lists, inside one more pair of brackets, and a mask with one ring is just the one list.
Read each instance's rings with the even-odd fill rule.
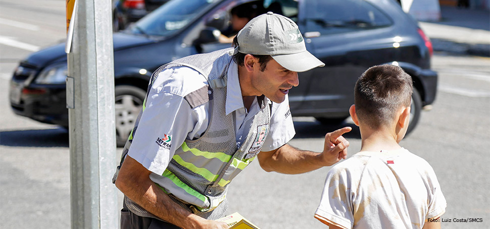
[[[264,109],[268,99],[264,95],[257,96],[257,102],[260,109]],[[243,97],[241,96],[240,81],[238,80],[238,66],[234,61],[231,61],[230,67],[228,67],[226,115],[240,108],[243,108]]]

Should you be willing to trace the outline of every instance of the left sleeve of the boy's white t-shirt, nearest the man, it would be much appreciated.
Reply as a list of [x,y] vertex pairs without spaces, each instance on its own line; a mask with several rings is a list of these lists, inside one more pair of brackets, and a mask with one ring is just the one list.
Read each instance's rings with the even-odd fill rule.
[[315,218],[325,224],[350,229],[354,225],[351,185],[347,170],[338,166],[330,169]]

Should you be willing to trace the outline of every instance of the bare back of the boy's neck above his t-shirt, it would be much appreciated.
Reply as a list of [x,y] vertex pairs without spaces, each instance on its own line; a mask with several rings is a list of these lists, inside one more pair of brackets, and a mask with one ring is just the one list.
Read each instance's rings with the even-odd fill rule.
[[397,142],[397,135],[386,128],[371,130],[361,129],[361,151],[380,152],[402,148]]

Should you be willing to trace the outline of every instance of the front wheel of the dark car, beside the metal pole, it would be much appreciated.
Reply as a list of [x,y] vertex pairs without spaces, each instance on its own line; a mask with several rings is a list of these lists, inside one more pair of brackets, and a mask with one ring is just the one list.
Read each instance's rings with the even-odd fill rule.
[[146,92],[141,88],[129,85],[116,86],[114,91],[116,94],[116,145],[123,147],[133,130]]

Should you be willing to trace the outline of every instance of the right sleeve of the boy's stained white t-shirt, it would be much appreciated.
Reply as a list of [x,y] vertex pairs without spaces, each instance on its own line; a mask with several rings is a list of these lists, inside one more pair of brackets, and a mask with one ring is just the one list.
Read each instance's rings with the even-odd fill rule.
[[446,198],[440,190],[439,182],[435,176],[432,167],[427,171],[427,180],[429,184],[429,209],[426,218],[438,218],[446,212]]

